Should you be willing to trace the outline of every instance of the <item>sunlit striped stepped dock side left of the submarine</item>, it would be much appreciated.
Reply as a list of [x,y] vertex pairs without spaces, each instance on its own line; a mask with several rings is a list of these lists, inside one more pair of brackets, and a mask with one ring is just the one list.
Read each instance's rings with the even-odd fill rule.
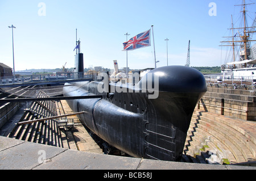
[[[44,94],[44,92],[41,92],[40,94]],[[49,100],[31,102],[24,110],[20,121],[36,120],[57,115],[56,105],[57,102]],[[57,121],[55,120],[47,120],[26,125],[16,124],[13,131],[11,131],[7,137],[63,148],[64,137],[61,136],[60,130],[57,127]]]

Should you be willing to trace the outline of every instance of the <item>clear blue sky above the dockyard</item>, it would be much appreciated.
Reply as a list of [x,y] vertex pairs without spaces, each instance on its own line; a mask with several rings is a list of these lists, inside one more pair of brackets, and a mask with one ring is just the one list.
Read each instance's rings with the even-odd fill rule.
[[[44,11],[43,6],[46,5]],[[210,16],[209,4],[216,4],[216,16]],[[247,0],[253,3],[253,0]],[[219,47],[228,36],[231,14],[240,13],[241,0],[97,0],[97,1],[0,1],[0,62],[13,68],[11,29],[14,29],[15,70],[55,69],[67,62],[74,67],[77,36],[84,53],[84,67],[126,67],[122,43],[154,25],[157,66],[185,65],[191,40],[191,66],[224,64],[225,49]],[[256,5],[247,6],[254,19]],[[39,15],[40,12],[45,14]],[[234,18],[235,19],[235,18]],[[251,19],[249,19],[251,21]],[[236,23],[236,20],[234,20]],[[154,47],[128,52],[131,69],[154,68]]]

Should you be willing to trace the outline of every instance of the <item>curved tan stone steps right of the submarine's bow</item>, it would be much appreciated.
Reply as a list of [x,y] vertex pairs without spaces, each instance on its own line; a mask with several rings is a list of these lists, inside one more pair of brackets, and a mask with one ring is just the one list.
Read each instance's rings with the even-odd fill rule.
[[183,162],[234,164],[256,161],[256,123],[195,110]]

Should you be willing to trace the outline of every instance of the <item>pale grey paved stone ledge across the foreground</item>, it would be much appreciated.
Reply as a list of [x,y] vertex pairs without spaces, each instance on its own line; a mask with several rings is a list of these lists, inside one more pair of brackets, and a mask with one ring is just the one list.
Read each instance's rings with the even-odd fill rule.
[[207,165],[118,157],[0,137],[0,170],[256,170],[256,167]]

